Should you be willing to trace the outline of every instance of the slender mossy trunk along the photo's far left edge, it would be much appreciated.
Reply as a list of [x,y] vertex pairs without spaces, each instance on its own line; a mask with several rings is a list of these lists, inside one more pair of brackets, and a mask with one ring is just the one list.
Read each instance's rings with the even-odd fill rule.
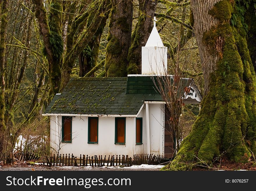
[[0,154],[3,152],[4,132],[6,130],[4,122],[5,113],[5,40],[6,40],[6,26],[7,26],[7,0],[0,3],[1,26],[0,26]]

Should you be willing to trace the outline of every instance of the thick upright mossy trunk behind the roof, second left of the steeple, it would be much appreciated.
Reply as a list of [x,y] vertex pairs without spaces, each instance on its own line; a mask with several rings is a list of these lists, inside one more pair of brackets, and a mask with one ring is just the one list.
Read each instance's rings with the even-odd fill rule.
[[105,70],[108,77],[127,76],[127,56],[131,45],[133,1],[111,0]]

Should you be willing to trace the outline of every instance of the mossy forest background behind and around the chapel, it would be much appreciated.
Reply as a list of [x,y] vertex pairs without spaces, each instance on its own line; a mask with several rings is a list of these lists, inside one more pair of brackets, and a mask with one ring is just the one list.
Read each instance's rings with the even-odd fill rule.
[[[71,77],[139,74],[154,16],[169,74],[192,77],[204,91],[187,0],[2,0],[0,8],[3,154],[49,154],[49,119],[41,114]],[[192,105],[182,111],[184,135],[198,112]]]

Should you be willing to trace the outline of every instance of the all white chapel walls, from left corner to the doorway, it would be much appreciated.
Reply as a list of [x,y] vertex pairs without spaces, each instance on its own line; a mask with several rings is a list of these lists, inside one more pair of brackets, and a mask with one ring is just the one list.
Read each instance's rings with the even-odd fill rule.
[[[163,104],[149,104],[150,153],[154,154],[163,154],[163,108]],[[138,117],[143,118],[143,144],[136,145],[136,118],[126,117],[126,139],[122,145],[115,144],[115,117],[99,117],[98,144],[88,144],[88,117],[72,117],[72,143],[64,143],[60,141],[62,117],[51,116],[51,147],[55,151],[60,148],[61,154],[73,153],[74,156],[147,154],[145,106]]]

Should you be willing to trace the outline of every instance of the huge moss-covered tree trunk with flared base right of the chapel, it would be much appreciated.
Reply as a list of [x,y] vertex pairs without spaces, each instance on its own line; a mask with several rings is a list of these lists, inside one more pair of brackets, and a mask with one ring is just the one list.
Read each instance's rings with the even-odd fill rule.
[[[191,1],[205,94],[191,133],[167,168],[188,167],[181,162],[211,163],[223,155],[235,162],[246,162],[256,153],[255,71],[243,15],[237,11],[243,3],[232,2]],[[255,2],[251,3],[253,6]],[[248,11],[246,6],[244,10]],[[238,19],[232,25],[234,14]]]

